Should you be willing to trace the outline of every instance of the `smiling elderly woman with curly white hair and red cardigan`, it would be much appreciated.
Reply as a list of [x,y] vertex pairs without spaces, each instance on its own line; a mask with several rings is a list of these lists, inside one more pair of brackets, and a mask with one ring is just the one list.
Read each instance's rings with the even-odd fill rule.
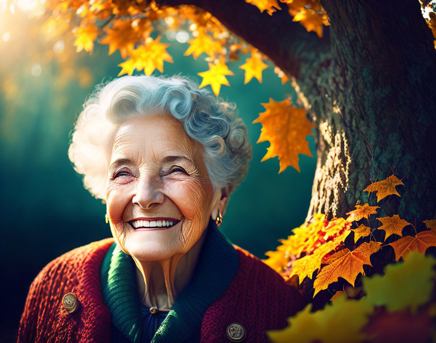
[[303,306],[218,230],[251,159],[234,106],[181,77],[120,77],[86,101],[69,157],[113,238],[42,269],[18,342],[267,342]]

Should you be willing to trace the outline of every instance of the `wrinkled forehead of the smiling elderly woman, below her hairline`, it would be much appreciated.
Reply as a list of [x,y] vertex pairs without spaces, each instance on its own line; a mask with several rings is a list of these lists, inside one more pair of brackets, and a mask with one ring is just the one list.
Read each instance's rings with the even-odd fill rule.
[[171,114],[146,114],[120,125],[114,136],[111,159],[123,156],[132,160],[159,160],[171,152],[198,160],[201,147]]

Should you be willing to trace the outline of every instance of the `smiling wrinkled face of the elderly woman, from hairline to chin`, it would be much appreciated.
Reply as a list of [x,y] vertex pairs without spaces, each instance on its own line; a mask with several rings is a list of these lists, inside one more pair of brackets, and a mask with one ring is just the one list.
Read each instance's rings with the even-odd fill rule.
[[[123,251],[143,261],[187,252],[207,227],[217,201],[202,146],[179,120],[147,114],[120,126],[106,202],[112,235]],[[167,227],[168,222],[173,225]]]

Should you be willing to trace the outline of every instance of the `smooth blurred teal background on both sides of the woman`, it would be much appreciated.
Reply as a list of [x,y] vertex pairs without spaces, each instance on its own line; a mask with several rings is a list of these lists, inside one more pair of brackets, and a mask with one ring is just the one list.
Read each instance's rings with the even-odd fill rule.
[[[168,42],[165,37],[162,41]],[[3,57],[7,44],[14,44],[13,37],[5,40],[0,32]],[[200,83],[197,73],[208,69],[207,62],[204,56],[183,56],[187,47],[171,42],[168,52],[174,63],[164,63],[164,74],[180,73]],[[116,77],[122,62],[118,52],[108,56],[107,45],[96,45],[91,56],[82,51],[75,57],[81,77],[63,84],[56,62],[35,71],[38,56],[14,58],[14,70],[0,69],[1,342],[15,341],[28,287],[42,267],[64,252],[111,236],[105,205],[83,188],[67,150],[86,96],[103,78]],[[231,87],[222,86],[220,96],[236,102],[249,129],[253,159],[247,178],[230,197],[220,229],[236,245],[265,258],[265,251],[275,249],[278,239],[304,222],[316,160],[300,154],[301,173],[288,167],[278,174],[277,157],[260,163],[269,146],[256,144],[261,124],[252,122],[265,110],[260,103],[295,95],[273,67],[263,72],[262,84],[253,79],[244,85],[244,71],[238,68],[243,63],[245,58],[230,62],[235,76],[227,76]],[[308,140],[314,154],[313,137]]]

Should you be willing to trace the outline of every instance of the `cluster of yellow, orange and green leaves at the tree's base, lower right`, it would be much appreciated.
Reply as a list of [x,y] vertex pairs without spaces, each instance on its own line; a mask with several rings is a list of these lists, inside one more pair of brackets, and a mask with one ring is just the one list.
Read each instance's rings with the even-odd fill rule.
[[[365,190],[379,203],[401,196],[398,185],[392,174]],[[308,305],[287,328],[269,332],[273,342],[429,342],[436,334],[436,260],[423,255],[436,247],[436,220],[417,226],[397,214],[379,216],[382,210],[365,203],[347,218],[316,214],[266,253],[266,264],[313,297],[312,310],[324,299],[331,304],[315,312]]]

